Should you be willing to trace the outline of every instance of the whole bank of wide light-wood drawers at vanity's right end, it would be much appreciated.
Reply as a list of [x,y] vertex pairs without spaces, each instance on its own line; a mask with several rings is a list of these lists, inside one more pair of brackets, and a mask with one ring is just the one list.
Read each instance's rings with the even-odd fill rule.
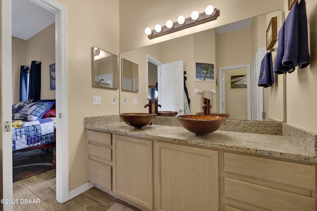
[[225,211],[315,211],[316,168],[224,153]]

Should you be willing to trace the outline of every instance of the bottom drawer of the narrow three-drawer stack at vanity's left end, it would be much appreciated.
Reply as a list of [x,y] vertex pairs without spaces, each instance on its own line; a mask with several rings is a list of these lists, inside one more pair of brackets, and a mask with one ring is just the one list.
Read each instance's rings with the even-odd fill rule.
[[111,167],[88,159],[88,179],[96,185],[111,190]]

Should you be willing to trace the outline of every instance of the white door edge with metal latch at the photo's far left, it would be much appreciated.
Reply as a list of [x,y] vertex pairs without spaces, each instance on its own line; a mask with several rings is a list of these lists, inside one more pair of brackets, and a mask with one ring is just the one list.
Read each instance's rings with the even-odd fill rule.
[[[12,188],[12,80],[11,80],[11,1],[2,0],[2,40],[1,40],[1,88],[0,88],[0,125],[1,125],[1,199],[13,199]],[[12,211],[12,203],[2,203],[3,210]]]

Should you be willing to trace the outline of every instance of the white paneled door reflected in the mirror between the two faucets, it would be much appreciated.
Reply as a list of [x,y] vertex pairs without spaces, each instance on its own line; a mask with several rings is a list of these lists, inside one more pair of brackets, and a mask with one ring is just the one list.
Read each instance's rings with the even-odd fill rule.
[[158,71],[160,111],[177,111],[184,114],[184,62],[162,64]]

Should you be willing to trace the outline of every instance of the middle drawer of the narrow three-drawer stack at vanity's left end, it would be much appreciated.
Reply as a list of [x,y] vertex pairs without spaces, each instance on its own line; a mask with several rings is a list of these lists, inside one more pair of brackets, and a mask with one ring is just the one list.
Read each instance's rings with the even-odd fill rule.
[[88,144],[88,157],[101,163],[106,163],[106,161],[112,160],[111,149]]

